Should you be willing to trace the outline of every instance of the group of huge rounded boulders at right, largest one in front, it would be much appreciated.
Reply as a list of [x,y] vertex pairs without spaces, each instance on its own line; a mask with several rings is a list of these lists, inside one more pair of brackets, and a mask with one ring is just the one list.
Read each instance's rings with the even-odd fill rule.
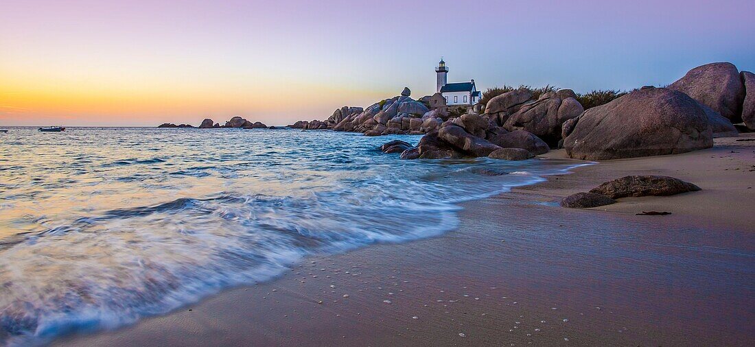
[[[607,160],[706,149],[713,137],[755,130],[755,78],[731,63],[690,70],[668,88],[643,87],[562,126],[572,158]],[[750,93],[747,93],[750,86]]]

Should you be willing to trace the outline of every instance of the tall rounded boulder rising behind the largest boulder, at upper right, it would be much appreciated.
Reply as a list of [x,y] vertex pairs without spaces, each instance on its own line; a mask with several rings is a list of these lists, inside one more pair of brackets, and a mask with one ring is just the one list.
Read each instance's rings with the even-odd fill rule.
[[689,70],[683,78],[668,86],[681,91],[719,112],[723,117],[741,121],[744,84],[732,63],[710,63]]

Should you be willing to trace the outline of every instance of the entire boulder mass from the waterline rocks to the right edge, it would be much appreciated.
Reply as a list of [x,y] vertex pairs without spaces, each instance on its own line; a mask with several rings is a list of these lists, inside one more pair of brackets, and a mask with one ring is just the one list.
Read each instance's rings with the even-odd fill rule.
[[746,127],[755,121],[753,83],[750,72],[712,63],[692,69],[668,88],[639,88],[587,110],[569,89],[535,98],[522,88],[493,97],[481,115],[443,121],[402,158],[513,160],[525,156],[513,149],[539,155],[563,147],[571,158],[609,160],[706,149],[713,137],[738,134],[732,121],[744,121]]

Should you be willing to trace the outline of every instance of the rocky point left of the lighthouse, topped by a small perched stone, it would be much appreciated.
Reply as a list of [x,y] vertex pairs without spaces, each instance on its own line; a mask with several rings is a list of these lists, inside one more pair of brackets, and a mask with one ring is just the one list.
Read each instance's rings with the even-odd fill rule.
[[424,103],[411,99],[411,91],[404,88],[401,95],[381,100],[368,106],[344,106],[336,109],[325,121],[297,121],[288,127],[298,129],[331,129],[333,131],[353,131],[367,136],[390,134],[427,134],[445,119]]

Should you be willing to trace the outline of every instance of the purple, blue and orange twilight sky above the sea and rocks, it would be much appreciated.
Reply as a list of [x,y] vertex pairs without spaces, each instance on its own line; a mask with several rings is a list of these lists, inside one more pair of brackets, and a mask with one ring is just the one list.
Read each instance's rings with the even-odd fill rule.
[[0,2],[0,125],[268,125],[448,81],[579,92],[755,70],[755,2]]

